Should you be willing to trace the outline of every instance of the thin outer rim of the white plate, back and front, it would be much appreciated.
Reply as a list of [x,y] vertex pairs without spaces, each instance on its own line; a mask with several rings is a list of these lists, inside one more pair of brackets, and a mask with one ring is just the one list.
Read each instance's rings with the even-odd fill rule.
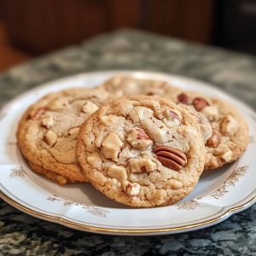
[[[204,86],[210,86],[212,90],[215,90],[216,92],[218,92],[224,96],[231,97],[232,100],[238,102],[244,108],[247,108],[248,114],[250,114],[254,120],[256,119],[256,112],[253,110],[253,108],[251,108],[250,106],[247,106],[247,104],[245,102],[242,102],[240,99],[237,99],[236,96],[229,95],[225,91],[220,90],[220,89],[214,87],[212,84],[209,84],[202,80],[193,79],[193,78],[189,78],[189,77],[186,77],[183,75],[176,75],[176,74],[172,74],[172,73],[161,73],[161,72],[148,71],[148,70],[143,71],[143,70],[129,70],[129,69],[102,70],[102,71],[95,71],[95,72],[89,72],[89,73],[77,73],[77,74],[69,75],[66,77],[61,77],[59,79],[49,80],[43,84],[36,86],[35,88],[26,90],[25,92],[21,93],[19,96],[15,96],[9,102],[4,104],[3,108],[1,108],[0,111],[4,113],[5,108],[8,108],[9,105],[11,105],[13,102],[18,101],[20,98],[26,96],[26,94],[32,93],[33,91],[40,90],[41,88],[44,88],[46,86],[50,86],[50,84],[52,84],[52,83],[61,82],[61,80],[67,80],[67,79],[72,80],[72,79],[78,78],[79,76],[86,77],[86,76],[96,75],[96,74],[107,75],[107,74],[117,74],[117,73],[128,73],[133,76],[136,76],[136,75],[139,76],[140,74],[160,75],[160,76],[169,77],[169,79],[171,79],[171,78],[172,79],[186,79],[186,80],[191,81],[192,83],[200,83],[201,85],[204,85]],[[251,195],[255,194],[255,191],[256,190],[254,189]],[[212,226],[214,224],[218,224],[218,223],[224,221],[224,219],[226,219],[226,218],[230,218],[231,215],[233,215],[237,212],[241,212],[241,211],[247,209],[248,207],[253,206],[253,203],[256,202],[256,195],[254,195],[249,201],[246,201],[240,205],[239,204],[237,205],[237,203],[236,203],[234,207],[224,207],[224,212],[221,215],[219,215],[218,217],[208,219],[205,221],[201,221],[196,224],[186,224],[183,226],[177,226],[177,227],[171,227],[171,228],[167,227],[167,228],[157,228],[157,229],[148,229],[148,230],[145,230],[145,229],[125,230],[125,229],[103,228],[103,227],[90,226],[90,225],[86,225],[86,224],[79,224],[74,221],[68,220],[66,218],[61,218],[59,216],[49,215],[46,213],[35,211],[29,207],[26,207],[26,206],[20,204],[19,201],[15,201],[14,199],[12,199],[11,197],[9,197],[9,195],[6,195],[2,191],[2,189],[0,190],[0,198],[2,198],[3,201],[6,201],[7,203],[9,203],[11,206],[19,209],[21,212],[25,212],[26,214],[32,215],[33,217],[36,217],[36,218],[41,218],[41,219],[44,219],[44,220],[47,220],[49,222],[53,222],[56,224],[62,224],[64,226],[73,228],[75,230],[83,230],[83,231],[90,231],[93,233],[101,233],[101,234],[108,234],[108,235],[123,235],[123,236],[140,236],[140,235],[143,235],[143,236],[147,236],[147,235],[153,236],[154,235],[155,236],[155,235],[164,235],[164,234],[171,234],[171,233],[174,234],[174,233],[181,233],[181,232],[187,232],[187,231],[207,228],[209,226]]]

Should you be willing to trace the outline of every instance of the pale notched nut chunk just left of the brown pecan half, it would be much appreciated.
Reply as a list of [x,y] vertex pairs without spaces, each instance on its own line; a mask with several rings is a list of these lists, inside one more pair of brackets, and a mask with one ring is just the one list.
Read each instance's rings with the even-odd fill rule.
[[143,158],[131,160],[130,162],[131,172],[153,172],[156,169],[156,164],[147,155]]

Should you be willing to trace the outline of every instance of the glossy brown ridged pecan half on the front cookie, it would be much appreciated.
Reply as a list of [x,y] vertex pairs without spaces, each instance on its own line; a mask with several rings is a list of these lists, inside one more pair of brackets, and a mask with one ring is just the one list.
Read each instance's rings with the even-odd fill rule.
[[154,148],[154,153],[163,166],[177,172],[187,163],[186,154],[175,148],[159,146]]

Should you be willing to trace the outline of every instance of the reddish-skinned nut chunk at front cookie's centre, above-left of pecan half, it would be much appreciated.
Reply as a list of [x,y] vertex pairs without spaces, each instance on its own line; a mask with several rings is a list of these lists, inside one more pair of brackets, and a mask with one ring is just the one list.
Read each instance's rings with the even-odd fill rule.
[[131,131],[127,137],[127,141],[133,148],[137,148],[139,150],[144,150],[153,143],[146,132],[140,128]]

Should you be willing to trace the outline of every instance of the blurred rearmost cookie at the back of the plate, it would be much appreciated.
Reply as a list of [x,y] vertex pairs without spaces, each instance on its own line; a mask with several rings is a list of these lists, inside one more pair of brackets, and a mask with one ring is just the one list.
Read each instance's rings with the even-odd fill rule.
[[166,81],[136,79],[124,74],[108,79],[101,87],[107,90],[112,98],[134,95],[165,96],[167,92],[172,92],[172,86],[166,83]]

